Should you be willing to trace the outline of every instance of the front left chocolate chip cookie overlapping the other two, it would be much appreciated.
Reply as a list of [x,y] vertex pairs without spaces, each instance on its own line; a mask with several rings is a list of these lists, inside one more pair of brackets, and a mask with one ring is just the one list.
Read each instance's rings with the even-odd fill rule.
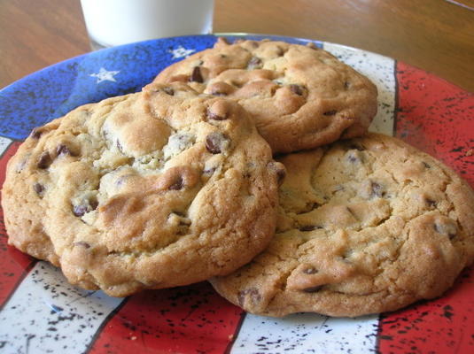
[[2,190],[9,242],[111,296],[203,281],[267,246],[282,168],[237,103],[151,84],[35,128]]

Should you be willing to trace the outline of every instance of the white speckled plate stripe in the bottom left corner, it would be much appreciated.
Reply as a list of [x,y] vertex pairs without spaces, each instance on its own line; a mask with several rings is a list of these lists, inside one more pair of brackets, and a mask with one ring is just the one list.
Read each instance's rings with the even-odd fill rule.
[[5,353],[82,353],[123,298],[77,289],[38,262],[0,312]]

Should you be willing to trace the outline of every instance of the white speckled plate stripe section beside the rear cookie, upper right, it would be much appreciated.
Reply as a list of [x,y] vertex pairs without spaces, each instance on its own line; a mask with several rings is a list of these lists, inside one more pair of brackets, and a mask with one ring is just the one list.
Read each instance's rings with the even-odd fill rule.
[[323,43],[323,49],[367,76],[378,89],[378,112],[369,130],[393,135],[395,115],[395,61],[365,50],[354,50],[339,44]]

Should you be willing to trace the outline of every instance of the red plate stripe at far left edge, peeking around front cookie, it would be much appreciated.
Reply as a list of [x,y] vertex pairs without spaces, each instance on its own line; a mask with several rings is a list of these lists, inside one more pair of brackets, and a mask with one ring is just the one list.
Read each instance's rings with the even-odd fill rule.
[[[21,142],[13,142],[0,158],[0,184],[4,185],[6,164],[18,150]],[[33,258],[8,246],[4,212],[0,208],[0,308],[8,301],[27,270],[35,263]]]

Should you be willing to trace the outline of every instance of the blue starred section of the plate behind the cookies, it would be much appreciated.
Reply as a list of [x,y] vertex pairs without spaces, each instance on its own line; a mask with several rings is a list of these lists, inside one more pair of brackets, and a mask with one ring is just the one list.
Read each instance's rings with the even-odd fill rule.
[[[315,42],[275,35],[220,36],[229,42],[238,38]],[[82,104],[139,91],[165,67],[182,60],[186,50],[205,50],[216,40],[216,35],[187,35],[136,42],[97,50],[28,75],[0,90],[0,135],[23,140],[34,127]]]

